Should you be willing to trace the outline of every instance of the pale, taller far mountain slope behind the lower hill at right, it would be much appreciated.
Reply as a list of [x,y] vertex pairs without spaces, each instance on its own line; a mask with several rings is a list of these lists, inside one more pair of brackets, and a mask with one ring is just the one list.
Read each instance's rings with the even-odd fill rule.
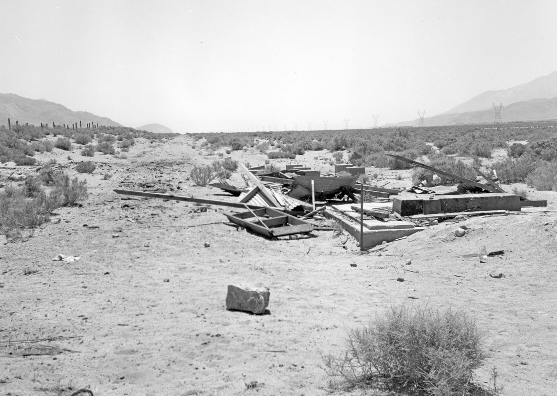
[[538,98],[549,99],[551,97],[557,97],[557,71],[506,90],[483,92],[483,94],[474,96],[472,99],[442,114],[487,110],[491,109],[494,104],[509,106],[516,102]]

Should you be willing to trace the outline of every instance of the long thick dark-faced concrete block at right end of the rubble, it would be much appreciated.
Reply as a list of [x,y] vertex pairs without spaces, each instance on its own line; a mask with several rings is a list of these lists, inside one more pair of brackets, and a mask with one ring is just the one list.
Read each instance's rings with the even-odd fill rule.
[[[520,197],[509,193],[462,194],[437,197],[441,202],[441,213],[475,211],[520,212]],[[393,211],[400,216],[411,216],[423,212],[424,197],[409,195],[393,199]]]

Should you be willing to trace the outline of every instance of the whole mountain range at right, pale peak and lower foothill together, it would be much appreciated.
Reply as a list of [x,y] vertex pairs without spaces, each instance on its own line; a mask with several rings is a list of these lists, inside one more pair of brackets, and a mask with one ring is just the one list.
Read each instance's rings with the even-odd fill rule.
[[[501,119],[557,119],[557,71],[506,90],[486,91],[444,113],[424,118],[426,126],[482,124],[495,121],[493,105],[502,104]],[[419,119],[382,126],[418,126]]]

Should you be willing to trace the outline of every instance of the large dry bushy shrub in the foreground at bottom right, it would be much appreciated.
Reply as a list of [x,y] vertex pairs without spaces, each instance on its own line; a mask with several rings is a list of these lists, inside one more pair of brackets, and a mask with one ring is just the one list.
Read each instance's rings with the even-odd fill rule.
[[331,388],[408,395],[490,394],[473,380],[487,358],[476,324],[462,311],[391,307],[348,334],[344,354],[325,356]]

